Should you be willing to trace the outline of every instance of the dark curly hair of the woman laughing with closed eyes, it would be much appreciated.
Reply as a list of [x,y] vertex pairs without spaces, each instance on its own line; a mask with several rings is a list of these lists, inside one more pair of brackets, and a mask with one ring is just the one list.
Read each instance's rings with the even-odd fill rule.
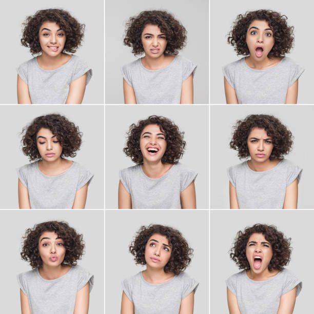
[[140,120],[138,124],[130,125],[126,147],[123,149],[131,160],[140,165],[143,164],[143,155],[140,149],[140,138],[143,129],[149,124],[157,124],[162,132],[165,132],[167,142],[166,151],[162,157],[162,163],[176,164],[184,153],[186,142],[183,141],[184,132],[180,132],[171,120],[164,116],[151,115],[146,120]]

